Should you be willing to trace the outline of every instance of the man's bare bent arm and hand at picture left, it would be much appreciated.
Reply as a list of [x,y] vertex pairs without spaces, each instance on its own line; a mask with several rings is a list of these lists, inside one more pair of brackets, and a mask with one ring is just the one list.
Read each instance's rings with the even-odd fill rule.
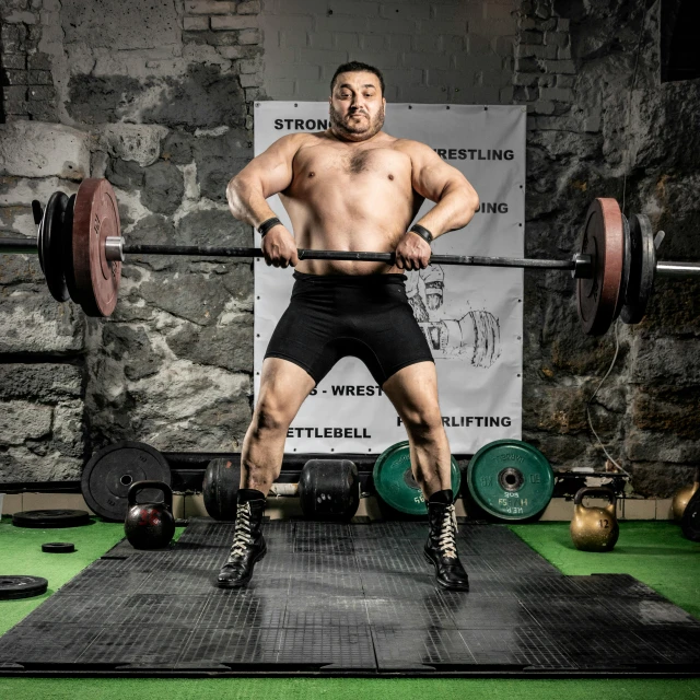
[[[291,133],[275,141],[254,158],[226,187],[229,209],[235,219],[256,229],[275,212],[267,198],[284,191],[292,183],[292,162],[305,139],[304,133]],[[299,261],[294,237],[282,225],[269,230],[262,238],[265,261],[275,267],[295,266]]]

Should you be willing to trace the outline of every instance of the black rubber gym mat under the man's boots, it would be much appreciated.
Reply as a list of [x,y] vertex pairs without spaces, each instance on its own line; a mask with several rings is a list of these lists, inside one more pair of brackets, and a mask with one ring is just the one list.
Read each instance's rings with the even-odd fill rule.
[[622,574],[564,576],[462,522],[469,593],[436,587],[427,525],[268,522],[250,584],[215,586],[233,523],[125,541],[0,638],[0,675],[698,675],[700,621]]

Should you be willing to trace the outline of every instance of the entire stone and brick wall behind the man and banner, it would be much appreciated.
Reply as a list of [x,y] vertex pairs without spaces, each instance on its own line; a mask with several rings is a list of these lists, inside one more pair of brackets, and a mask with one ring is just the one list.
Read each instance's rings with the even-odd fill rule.
[[[115,186],[130,242],[248,245],[224,187],[252,156],[254,101],[325,100],[337,65],[361,59],[389,102],[527,105],[527,255],[568,257],[608,196],[666,230],[663,257],[697,259],[699,84],[661,83],[660,5],[2,0],[0,235],[34,235],[31,200],[91,175]],[[581,334],[568,276],[525,281],[523,438],[557,466],[604,467],[585,409],[615,334]],[[700,462],[699,287],[657,281],[591,405],[645,495]],[[131,257],[102,322],[55,304],[35,257],[2,256],[0,480],[78,478],[121,439],[238,448],[252,312],[244,262]]]

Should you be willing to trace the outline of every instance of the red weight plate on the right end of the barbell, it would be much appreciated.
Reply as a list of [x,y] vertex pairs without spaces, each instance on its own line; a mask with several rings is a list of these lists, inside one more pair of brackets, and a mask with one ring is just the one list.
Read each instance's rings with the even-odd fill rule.
[[593,200],[586,213],[581,253],[591,256],[593,275],[578,280],[579,317],[587,335],[602,336],[619,311],[623,279],[625,229],[617,200]]

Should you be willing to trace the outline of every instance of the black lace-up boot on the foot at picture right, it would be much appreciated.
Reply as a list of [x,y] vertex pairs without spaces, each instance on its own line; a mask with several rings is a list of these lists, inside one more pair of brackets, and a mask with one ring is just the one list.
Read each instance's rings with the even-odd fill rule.
[[438,491],[428,501],[428,541],[423,552],[435,567],[438,583],[450,591],[468,591],[469,579],[457,556],[457,516],[450,489]]

